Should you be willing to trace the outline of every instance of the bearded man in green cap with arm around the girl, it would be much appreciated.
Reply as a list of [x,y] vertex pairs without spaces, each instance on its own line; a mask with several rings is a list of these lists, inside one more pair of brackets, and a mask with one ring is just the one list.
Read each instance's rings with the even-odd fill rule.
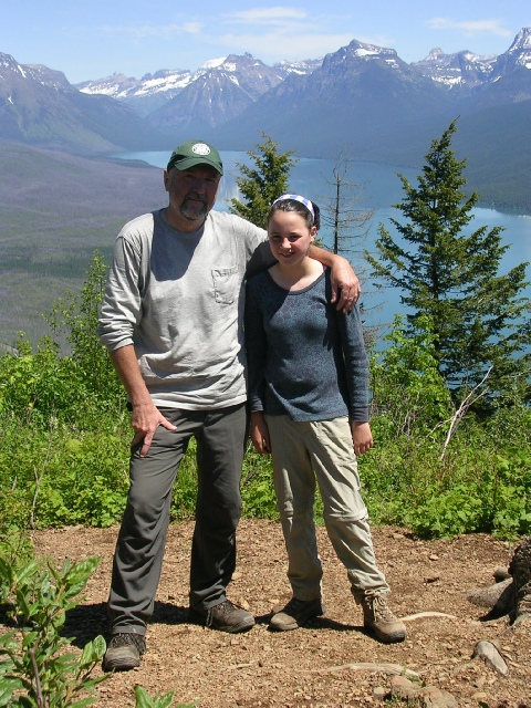
[[[171,488],[192,436],[190,617],[230,633],[254,624],[226,589],[236,568],[247,431],[243,282],[271,254],[266,231],[212,210],[222,174],[211,145],[177,146],[164,170],[168,206],[127,223],[114,249],[97,331],[127,391],[135,436],[108,598],[106,670],[138,666],[145,652]],[[352,306],[360,285],[347,261],[321,249],[313,257],[332,266],[337,308]]]

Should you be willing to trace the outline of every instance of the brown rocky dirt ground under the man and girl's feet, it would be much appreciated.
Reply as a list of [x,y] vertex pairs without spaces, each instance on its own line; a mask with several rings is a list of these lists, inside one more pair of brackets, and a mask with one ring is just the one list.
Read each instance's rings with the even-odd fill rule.
[[[241,522],[238,568],[229,587],[229,597],[252,611],[257,625],[246,634],[229,635],[189,624],[191,531],[191,523],[170,527],[142,666],[101,684],[96,706],[134,706],[136,684],[152,696],[175,690],[176,702],[198,699],[199,708],[389,705],[393,675],[383,666],[356,668],[363,663],[415,671],[418,685],[448,691],[459,706],[531,707],[531,622],[513,628],[507,617],[487,621],[487,610],[465,596],[467,591],[490,585],[497,568],[507,569],[513,544],[481,534],[427,542],[399,529],[374,529],[376,554],[392,586],[395,614],[451,615],[409,618],[406,642],[386,646],[364,632],[361,608],[350,594],[345,570],[324,529],[319,529],[319,539],[326,616],[294,632],[268,629],[272,610],[290,597],[281,529],[271,521]],[[40,555],[58,561],[65,556],[102,559],[90,580],[86,600],[69,614],[66,631],[79,646],[97,634],[106,636],[105,600],[116,534],[116,528],[34,534]],[[472,659],[480,639],[498,646],[509,676],[499,676],[481,659]],[[395,700],[393,705],[402,704]]]

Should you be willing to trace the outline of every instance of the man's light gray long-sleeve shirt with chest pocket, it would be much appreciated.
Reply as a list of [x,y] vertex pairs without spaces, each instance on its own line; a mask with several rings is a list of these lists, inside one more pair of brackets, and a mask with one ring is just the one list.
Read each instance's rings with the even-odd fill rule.
[[100,341],[110,351],[134,345],[157,406],[236,405],[247,397],[244,278],[271,259],[267,233],[220,211],[187,233],[163,211],[129,221],[116,239]]

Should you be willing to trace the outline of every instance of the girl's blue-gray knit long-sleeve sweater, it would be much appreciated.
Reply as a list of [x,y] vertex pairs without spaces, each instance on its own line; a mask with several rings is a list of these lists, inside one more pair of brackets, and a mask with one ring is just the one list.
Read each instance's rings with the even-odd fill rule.
[[326,269],[290,292],[262,271],[249,279],[246,347],[251,410],[293,420],[348,415],[368,420],[368,361],[357,305],[348,314],[330,303]]

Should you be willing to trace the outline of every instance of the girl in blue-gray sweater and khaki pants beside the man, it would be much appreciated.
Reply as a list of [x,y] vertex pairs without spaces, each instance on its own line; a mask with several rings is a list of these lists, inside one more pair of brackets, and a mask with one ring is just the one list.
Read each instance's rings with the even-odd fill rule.
[[293,596],[270,627],[295,629],[324,614],[313,502],[315,477],[330,540],[347,569],[365,627],[386,643],[406,637],[387,605],[376,565],[356,455],[373,447],[368,363],[357,306],[330,302],[330,272],[308,257],[319,208],[299,195],[274,201],[268,218],[278,263],[247,284],[246,342],[251,439],[271,452]]

